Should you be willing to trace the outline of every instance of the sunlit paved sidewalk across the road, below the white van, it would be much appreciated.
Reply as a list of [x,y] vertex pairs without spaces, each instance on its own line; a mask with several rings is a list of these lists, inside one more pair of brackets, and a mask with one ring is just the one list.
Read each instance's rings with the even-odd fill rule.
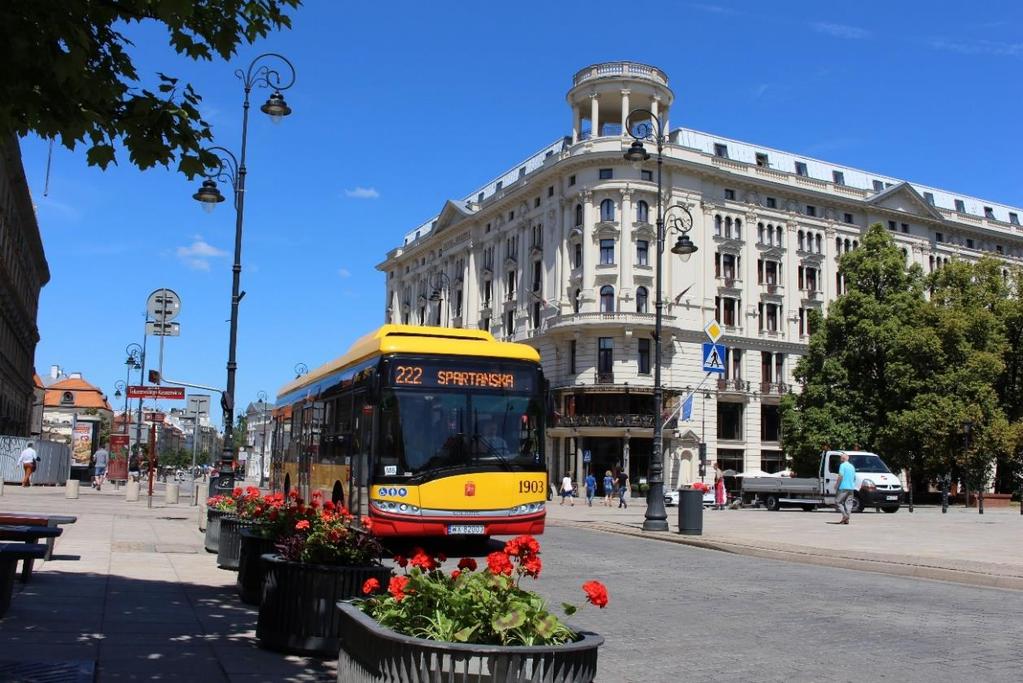
[[828,566],[882,572],[978,586],[1023,590],[1023,516],[1019,507],[976,509],[917,507],[894,514],[853,515],[848,527],[829,525],[832,510],[704,510],[702,536],[680,536],[678,508],[668,508],[667,534],[642,532],[646,502],[628,509],[585,500],[549,503],[547,522],[643,536],[662,541]]

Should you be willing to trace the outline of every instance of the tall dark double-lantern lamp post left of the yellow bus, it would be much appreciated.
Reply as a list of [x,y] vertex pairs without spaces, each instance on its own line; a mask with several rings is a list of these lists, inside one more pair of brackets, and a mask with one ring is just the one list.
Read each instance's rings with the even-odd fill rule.
[[[286,67],[284,76],[277,67],[261,63],[269,61],[279,62]],[[278,65],[279,65],[278,64]],[[278,123],[281,119],[292,112],[292,107],[284,101],[282,90],[287,90],[295,85],[295,66],[284,56],[275,52],[261,54],[252,60],[249,69],[242,72],[240,69],[234,75],[241,81],[244,87],[244,100],[241,105],[241,149],[240,154],[235,157],[224,147],[212,147],[208,151],[217,152],[218,163],[216,168],[207,175],[202,187],[192,195],[192,198],[203,204],[207,211],[213,211],[216,206],[224,200],[224,195],[217,188],[217,181],[228,182],[234,192],[234,265],[231,268],[231,331],[227,347],[227,386],[221,396],[220,405],[224,411],[224,448],[220,457],[220,473],[216,481],[210,482],[210,492],[216,490],[230,491],[234,488],[234,372],[237,368],[235,362],[238,337],[238,303],[244,295],[241,292],[241,228],[244,221],[244,197],[246,197],[246,146],[249,138],[249,95],[256,86],[260,88],[272,88],[273,94],[263,103],[260,110],[270,117],[273,123]]]

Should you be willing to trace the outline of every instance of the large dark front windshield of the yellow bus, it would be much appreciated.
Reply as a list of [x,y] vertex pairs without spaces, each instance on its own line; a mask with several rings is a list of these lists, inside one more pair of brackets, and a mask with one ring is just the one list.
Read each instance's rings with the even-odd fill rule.
[[436,469],[542,469],[543,406],[524,394],[385,390],[377,476]]

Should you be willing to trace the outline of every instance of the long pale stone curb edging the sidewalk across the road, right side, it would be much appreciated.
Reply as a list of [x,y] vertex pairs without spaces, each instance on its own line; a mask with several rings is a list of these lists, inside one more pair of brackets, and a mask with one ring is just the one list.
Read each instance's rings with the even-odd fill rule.
[[926,561],[923,558],[920,558],[917,561],[906,559],[904,562],[899,562],[890,559],[855,557],[843,554],[825,554],[826,551],[811,552],[808,551],[808,549],[780,550],[776,548],[765,548],[728,541],[709,541],[694,536],[681,536],[670,532],[643,532],[636,528],[624,525],[616,526],[602,522],[577,522],[571,519],[548,519],[547,523],[552,527],[588,529],[590,531],[604,532],[606,534],[618,534],[620,536],[631,536],[633,538],[660,541],[662,543],[687,545],[694,548],[716,550],[718,552],[727,552],[733,555],[746,555],[749,557],[760,557],[763,559],[776,559],[801,564],[814,564],[817,566],[831,566],[841,570],[874,572],[876,574],[909,577],[913,579],[946,581],[966,586],[980,586],[985,588],[1002,588],[1023,591],[1023,577],[973,572],[970,570],[954,570],[935,564],[926,564],[923,563]]

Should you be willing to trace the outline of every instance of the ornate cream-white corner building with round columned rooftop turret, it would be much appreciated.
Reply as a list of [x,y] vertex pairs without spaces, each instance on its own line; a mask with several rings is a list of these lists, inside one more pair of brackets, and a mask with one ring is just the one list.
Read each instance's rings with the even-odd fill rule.
[[[646,481],[653,436],[657,166],[626,162],[629,129],[664,122],[662,278],[665,405],[694,395],[664,431],[665,485],[699,480],[699,445],[725,469],[783,466],[781,397],[811,333],[842,293],[839,257],[872,224],[925,272],[984,254],[1023,263],[1023,210],[838,164],[670,128],[660,70],[594,64],[568,92],[571,135],[409,231],[377,266],[388,322],[489,329],[541,354],[554,392],[552,481],[625,467]],[[635,108],[648,113],[633,115]],[[653,151],[651,144],[648,149]],[[684,207],[699,247],[670,232]],[[724,373],[703,371],[716,320]],[[597,477],[598,481],[601,476]]]

